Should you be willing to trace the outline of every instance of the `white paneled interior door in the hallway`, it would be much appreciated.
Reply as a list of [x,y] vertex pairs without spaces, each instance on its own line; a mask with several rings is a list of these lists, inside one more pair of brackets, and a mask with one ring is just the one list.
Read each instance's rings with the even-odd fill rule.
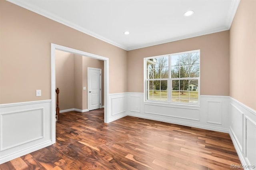
[[89,111],[101,107],[101,69],[88,68]]

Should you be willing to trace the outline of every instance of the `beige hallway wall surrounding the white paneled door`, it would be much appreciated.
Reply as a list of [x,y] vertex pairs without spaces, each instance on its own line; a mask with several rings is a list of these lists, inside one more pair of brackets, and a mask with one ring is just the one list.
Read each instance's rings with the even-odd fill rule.
[[[90,57],[83,56],[83,87],[87,87],[87,68],[92,67],[92,68],[98,68],[101,69],[102,73],[102,106],[104,106],[104,61],[98,60],[98,59],[93,59]],[[83,109],[87,109],[87,90],[83,91]]]

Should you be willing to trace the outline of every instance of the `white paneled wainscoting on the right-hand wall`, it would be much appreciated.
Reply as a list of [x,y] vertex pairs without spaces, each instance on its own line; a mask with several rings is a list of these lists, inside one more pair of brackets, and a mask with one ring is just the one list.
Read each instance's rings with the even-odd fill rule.
[[230,121],[230,137],[241,163],[256,165],[256,111],[230,97]]

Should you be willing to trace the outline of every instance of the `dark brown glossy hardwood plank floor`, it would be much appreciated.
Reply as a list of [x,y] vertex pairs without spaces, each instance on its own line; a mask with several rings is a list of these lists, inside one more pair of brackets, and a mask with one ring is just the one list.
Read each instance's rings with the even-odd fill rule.
[[0,165],[1,170],[226,170],[239,165],[229,134],[124,117],[103,109],[60,114],[56,144]]

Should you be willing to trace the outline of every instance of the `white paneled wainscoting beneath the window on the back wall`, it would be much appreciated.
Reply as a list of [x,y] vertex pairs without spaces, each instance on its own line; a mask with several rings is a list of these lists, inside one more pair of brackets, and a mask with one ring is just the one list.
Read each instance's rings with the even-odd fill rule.
[[127,115],[228,133],[229,97],[201,96],[200,105],[144,102],[143,93],[126,93]]

